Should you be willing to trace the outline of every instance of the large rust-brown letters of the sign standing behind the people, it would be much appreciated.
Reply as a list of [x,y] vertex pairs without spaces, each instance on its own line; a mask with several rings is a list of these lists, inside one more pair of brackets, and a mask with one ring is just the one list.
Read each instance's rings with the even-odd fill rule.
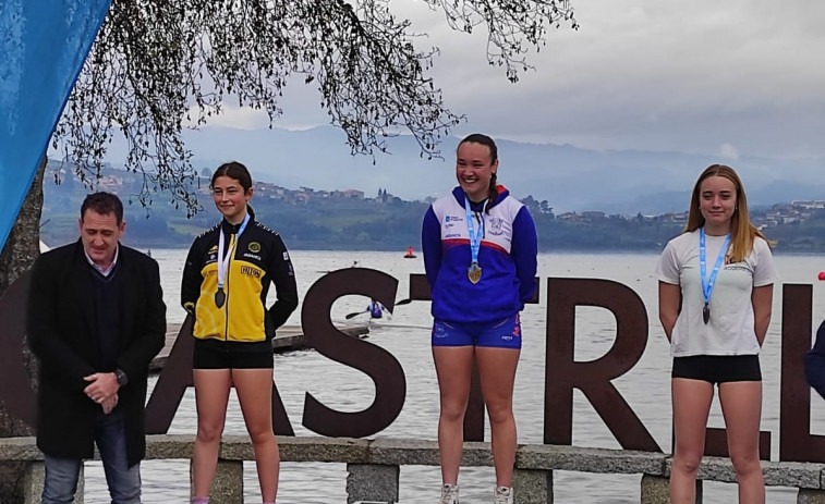
[[[21,358],[25,330],[25,300],[29,275],[24,274],[0,297],[0,401],[17,419],[34,423],[34,391]],[[303,303],[302,323],[311,346],[332,360],[359,369],[375,384],[373,404],[362,411],[338,411],[306,394],[303,425],[324,435],[367,437],[387,428],[404,404],[407,381],[398,360],[387,351],[345,335],[330,320],[336,299],[359,294],[395,307],[398,282],[380,271],[348,268],[318,280]],[[639,360],[647,341],[647,315],[628,286],[596,279],[548,279],[547,364],[545,367],[544,442],[572,444],[573,389],[581,390],[622,447],[660,451],[647,429],[610,383]],[[410,297],[429,298],[423,275],[411,275]],[[535,300],[535,299],[534,299]],[[596,306],[616,317],[612,348],[593,361],[574,360],[575,307]],[[782,295],[782,367],[779,459],[825,462],[825,437],[811,434],[811,393],[803,357],[811,347],[812,288],[786,285]],[[825,324],[824,324],[825,327]],[[822,329],[825,331],[825,329]],[[147,430],[163,433],[183,392],[192,385],[192,319],[181,328],[147,407]],[[663,358],[665,358],[663,356]],[[666,379],[666,377],[663,377]],[[474,381],[477,377],[474,377]],[[276,433],[292,435],[277,388],[272,386]],[[465,439],[483,440],[484,402],[474,383],[465,417]],[[763,458],[771,453],[771,433],[760,433]],[[727,455],[724,429],[708,429],[705,453]]]

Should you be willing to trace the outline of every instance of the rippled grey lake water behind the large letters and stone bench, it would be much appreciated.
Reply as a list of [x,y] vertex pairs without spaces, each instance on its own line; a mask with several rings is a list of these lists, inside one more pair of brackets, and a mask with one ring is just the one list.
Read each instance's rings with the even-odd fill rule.
[[[184,318],[180,308],[180,278],[185,250],[153,250],[158,260],[169,307],[169,321]],[[299,293],[327,271],[345,268],[359,261],[399,280],[398,299],[408,297],[410,273],[423,273],[421,256],[403,259],[403,251],[305,251],[294,250],[292,260],[296,271]],[[670,358],[667,340],[658,323],[656,281],[653,270],[656,255],[642,254],[546,254],[539,255],[538,276],[542,296],[537,305],[529,305],[522,315],[523,349],[515,380],[514,410],[520,443],[542,443],[543,384],[545,366],[546,279],[548,276],[595,278],[615,280],[628,285],[644,300],[650,320],[650,339],[642,359],[627,374],[615,380],[616,386],[638,414],[663,450],[670,446]],[[825,282],[816,274],[825,270],[825,259],[814,256],[778,256],[777,265],[782,283],[814,284],[814,319],[825,317]],[[332,320],[344,321],[345,314],[363,310],[368,299],[348,296],[332,308]],[[772,459],[778,458],[779,431],[779,365],[781,290],[774,295],[774,317],[762,354],[764,405],[762,429],[773,432]],[[301,307],[288,324],[300,323]],[[399,306],[391,320],[373,325],[368,342],[395,355],[403,366],[408,381],[408,396],[398,419],[376,437],[435,439],[438,422],[438,388],[429,347],[428,302]],[[577,360],[592,360],[609,351],[615,339],[615,319],[607,310],[583,307],[577,312]],[[325,405],[356,411],[373,401],[372,380],[360,371],[333,362],[316,352],[293,352],[276,355],[275,376],[278,389],[296,435],[316,435],[301,425],[305,393],[312,393]],[[154,384],[154,382],[153,382]],[[825,433],[825,402],[815,398],[812,406],[813,431]],[[708,422],[724,427],[721,413],[715,402]],[[194,433],[196,426],[194,391],[184,396],[170,433]],[[230,401],[227,433],[245,434],[242,416],[234,398]],[[489,440],[489,432],[487,432]],[[598,415],[584,396],[577,392],[573,414],[573,444],[618,448]],[[144,503],[187,502],[189,462],[148,460],[143,463]],[[254,463],[245,464],[245,502],[260,502]],[[345,466],[343,464],[284,463],[281,468],[278,502],[282,503],[343,503],[345,496]],[[554,488],[556,502],[572,504],[638,503],[640,476],[590,475],[556,471]],[[463,502],[489,502],[495,483],[492,468],[464,468],[460,476]],[[440,472],[437,467],[401,468],[400,502],[417,504],[436,502],[439,495]],[[86,466],[86,502],[109,502],[99,463]],[[721,504],[736,502],[736,487],[729,483],[705,483],[704,502]],[[768,488],[767,502],[796,503],[796,490]]]

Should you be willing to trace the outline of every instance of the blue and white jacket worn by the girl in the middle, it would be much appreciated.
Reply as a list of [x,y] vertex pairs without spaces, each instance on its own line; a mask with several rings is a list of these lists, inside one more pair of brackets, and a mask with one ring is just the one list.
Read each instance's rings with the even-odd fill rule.
[[478,250],[482,279],[470,282],[471,260],[464,192],[461,187],[437,199],[424,216],[422,249],[433,296],[433,317],[447,322],[494,322],[524,308],[536,290],[537,237],[526,207],[498,186],[489,212],[484,202],[473,205],[476,219],[484,219]]

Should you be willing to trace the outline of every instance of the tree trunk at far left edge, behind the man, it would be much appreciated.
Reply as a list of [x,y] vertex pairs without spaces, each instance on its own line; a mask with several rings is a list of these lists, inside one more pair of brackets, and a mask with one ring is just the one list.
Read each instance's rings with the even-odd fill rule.
[[[14,283],[22,273],[34,265],[40,255],[40,214],[43,212],[43,175],[46,171],[47,159],[44,157],[37,169],[37,174],[28,189],[23,207],[17,213],[17,220],[9,234],[9,239],[0,253],[0,296]],[[35,378],[35,358],[28,351],[23,337],[23,361],[29,376]],[[2,352],[2,349],[0,349]],[[36,384],[35,384],[36,386]],[[12,418],[5,405],[0,402],[0,437],[33,435],[34,431],[20,420]],[[24,464],[0,463],[0,502],[23,502],[23,471]]]

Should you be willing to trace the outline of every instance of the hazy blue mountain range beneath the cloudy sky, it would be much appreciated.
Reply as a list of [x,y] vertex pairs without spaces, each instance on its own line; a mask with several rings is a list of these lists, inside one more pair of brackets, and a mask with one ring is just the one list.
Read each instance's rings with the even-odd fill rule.
[[[456,185],[457,137],[440,145],[444,159],[422,158],[410,136],[387,139],[391,153],[352,156],[343,133],[333,126],[310,130],[203,127],[184,134],[198,173],[238,160],[260,182],[287,188],[378,189],[402,199],[425,199]],[[556,213],[600,210],[608,213],[665,213],[687,210],[701,171],[713,163],[733,167],[751,206],[825,199],[825,159],[771,159],[645,150],[590,150],[570,145],[497,140],[499,183],[518,198],[547,200]],[[110,159],[124,151],[112,144]]]

